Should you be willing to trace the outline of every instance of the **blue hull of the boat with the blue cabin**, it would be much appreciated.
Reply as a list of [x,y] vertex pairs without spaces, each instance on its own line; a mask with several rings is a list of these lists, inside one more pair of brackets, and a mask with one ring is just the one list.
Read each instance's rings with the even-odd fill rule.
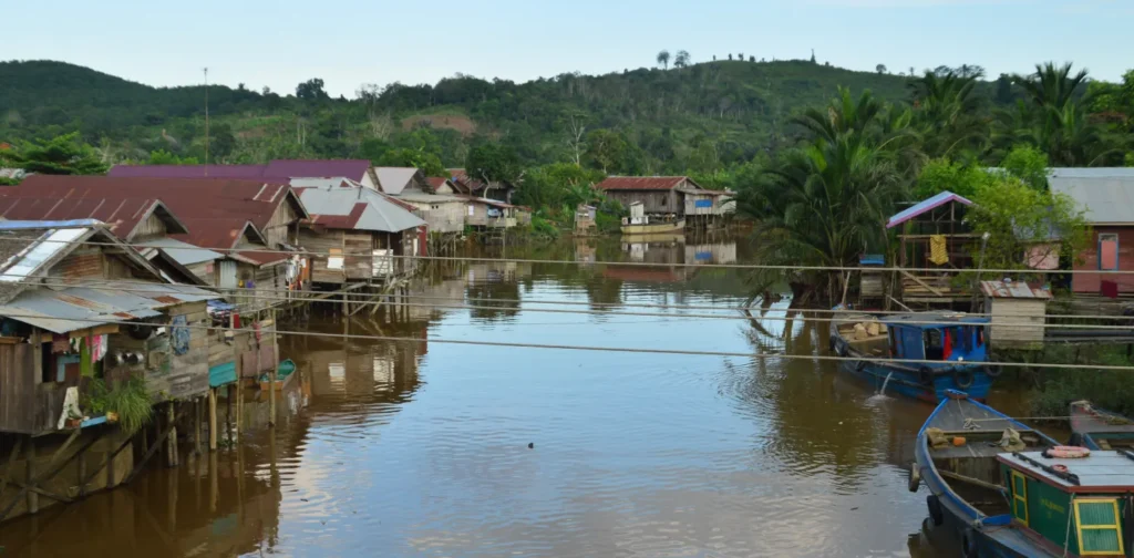
[[[886,363],[840,361],[839,370],[869,382],[875,391],[882,392],[885,386],[883,395],[897,394],[934,404],[943,400],[948,390],[964,391],[974,399],[984,400],[992,387],[992,379],[984,373],[982,366],[955,366],[934,371],[932,383],[923,383],[917,371]],[[957,380],[958,375],[964,375],[963,372],[970,373],[973,379],[966,387],[962,387]]]

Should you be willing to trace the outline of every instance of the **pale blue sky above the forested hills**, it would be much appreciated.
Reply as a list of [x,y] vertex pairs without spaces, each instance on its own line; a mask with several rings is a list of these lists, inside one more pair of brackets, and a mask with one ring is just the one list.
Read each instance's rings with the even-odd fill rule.
[[54,0],[5,7],[0,59],[62,60],[156,86],[294,93],[322,78],[435,83],[457,73],[524,82],[653,66],[686,50],[809,58],[889,71],[979,65],[1030,73],[1073,61],[1097,79],[1134,67],[1129,0]]

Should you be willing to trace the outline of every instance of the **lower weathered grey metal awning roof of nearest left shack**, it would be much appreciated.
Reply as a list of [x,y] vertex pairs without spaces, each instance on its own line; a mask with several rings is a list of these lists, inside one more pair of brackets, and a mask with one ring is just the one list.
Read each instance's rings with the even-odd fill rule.
[[188,285],[118,281],[78,285],[62,290],[35,289],[0,305],[0,316],[28,323],[54,333],[66,333],[104,323],[161,315],[177,304],[220,298],[220,295]]

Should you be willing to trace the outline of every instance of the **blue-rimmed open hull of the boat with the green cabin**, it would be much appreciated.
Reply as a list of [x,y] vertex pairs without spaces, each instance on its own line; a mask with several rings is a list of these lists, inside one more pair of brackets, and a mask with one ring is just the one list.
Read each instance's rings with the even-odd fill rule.
[[[909,470],[909,491],[916,492],[924,484],[931,492],[925,499],[929,518],[924,529],[956,535],[965,557],[1063,556],[1061,547],[1059,555],[1050,553],[1047,544],[1027,532],[1029,523],[1034,525],[1040,515],[1055,513],[1044,508],[1053,491],[1018,484],[1025,480],[1022,474],[1036,473],[1017,473],[998,460],[1006,455],[1039,455],[1034,451],[1058,442],[965,394],[949,391],[947,396],[917,433]],[[1018,433],[1015,443],[1001,445],[1006,438],[1014,439],[1012,432]],[[963,440],[957,440],[959,443],[955,442],[958,438]],[[1008,490],[1009,482],[1019,490]],[[1064,513],[1069,509],[1066,500],[1060,506]],[[1064,514],[1059,533],[1065,533],[1066,526]]]

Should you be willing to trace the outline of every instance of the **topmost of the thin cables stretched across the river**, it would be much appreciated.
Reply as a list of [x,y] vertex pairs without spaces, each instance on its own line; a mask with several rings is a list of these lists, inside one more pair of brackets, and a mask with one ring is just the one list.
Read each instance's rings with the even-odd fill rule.
[[[176,248],[162,248],[160,246],[147,246],[145,244],[122,243],[99,243],[92,240],[54,240],[50,238],[27,238],[27,237],[0,237],[0,242],[42,242],[58,244],[81,244],[91,246],[128,246],[135,250],[185,250],[185,251],[208,251],[208,252],[230,252],[246,254],[276,254],[276,255],[308,255],[308,256],[331,256],[330,252],[312,252],[305,250],[286,251],[270,248],[206,248],[202,246],[178,246]],[[342,252],[333,254],[336,257],[375,257],[372,252]],[[476,263],[533,263],[552,265],[621,265],[641,268],[689,268],[689,269],[738,269],[738,270],[762,270],[762,271],[869,271],[869,272],[925,272],[925,273],[1014,273],[1014,274],[1101,274],[1101,276],[1125,276],[1134,274],[1134,270],[1034,270],[1034,269],[939,269],[939,268],[862,268],[852,265],[769,265],[748,263],[653,263],[653,262],[578,262],[574,260],[534,260],[515,257],[469,257],[469,256],[437,256],[437,255],[414,255],[414,254],[382,254],[376,257],[399,259],[399,260],[425,260],[441,262],[476,262]]]

